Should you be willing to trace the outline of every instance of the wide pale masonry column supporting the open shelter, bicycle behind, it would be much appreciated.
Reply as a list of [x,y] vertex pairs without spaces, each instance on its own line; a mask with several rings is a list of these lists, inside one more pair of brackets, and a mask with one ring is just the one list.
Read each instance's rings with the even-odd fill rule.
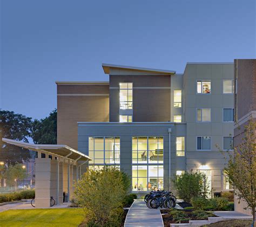
[[36,208],[50,207],[51,160],[36,159]]

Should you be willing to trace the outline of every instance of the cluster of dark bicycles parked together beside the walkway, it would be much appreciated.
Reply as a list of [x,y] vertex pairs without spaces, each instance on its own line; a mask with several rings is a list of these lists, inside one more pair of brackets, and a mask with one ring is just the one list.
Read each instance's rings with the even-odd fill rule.
[[176,197],[171,191],[165,190],[151,191],[145,196],[144,201],[148,208],[154,209],[158,207],[170,209],[176,206]]

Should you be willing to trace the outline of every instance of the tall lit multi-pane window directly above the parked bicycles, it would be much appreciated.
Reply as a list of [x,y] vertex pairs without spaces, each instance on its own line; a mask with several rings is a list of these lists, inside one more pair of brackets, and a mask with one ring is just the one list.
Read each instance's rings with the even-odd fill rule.
[[132,190],[163,189],[163,137],[132,138]]

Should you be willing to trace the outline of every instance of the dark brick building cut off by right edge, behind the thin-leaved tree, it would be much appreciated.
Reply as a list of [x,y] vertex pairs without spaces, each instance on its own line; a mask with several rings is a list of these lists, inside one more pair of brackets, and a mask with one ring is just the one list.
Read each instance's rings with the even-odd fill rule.
[[[234,146],[238,146],[244,137],[244,126],[248,120],[256,119],[256,59],[234,60]],[[234,198],[234,209],[244,214],[251,215],[246,208],[245,201]]]

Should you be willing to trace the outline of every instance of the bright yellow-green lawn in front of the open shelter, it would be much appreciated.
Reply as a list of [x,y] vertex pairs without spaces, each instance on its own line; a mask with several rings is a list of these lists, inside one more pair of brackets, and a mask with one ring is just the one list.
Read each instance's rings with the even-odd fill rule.
[[7,210],[0,212],[0,226],[78,226],[82,208]]

